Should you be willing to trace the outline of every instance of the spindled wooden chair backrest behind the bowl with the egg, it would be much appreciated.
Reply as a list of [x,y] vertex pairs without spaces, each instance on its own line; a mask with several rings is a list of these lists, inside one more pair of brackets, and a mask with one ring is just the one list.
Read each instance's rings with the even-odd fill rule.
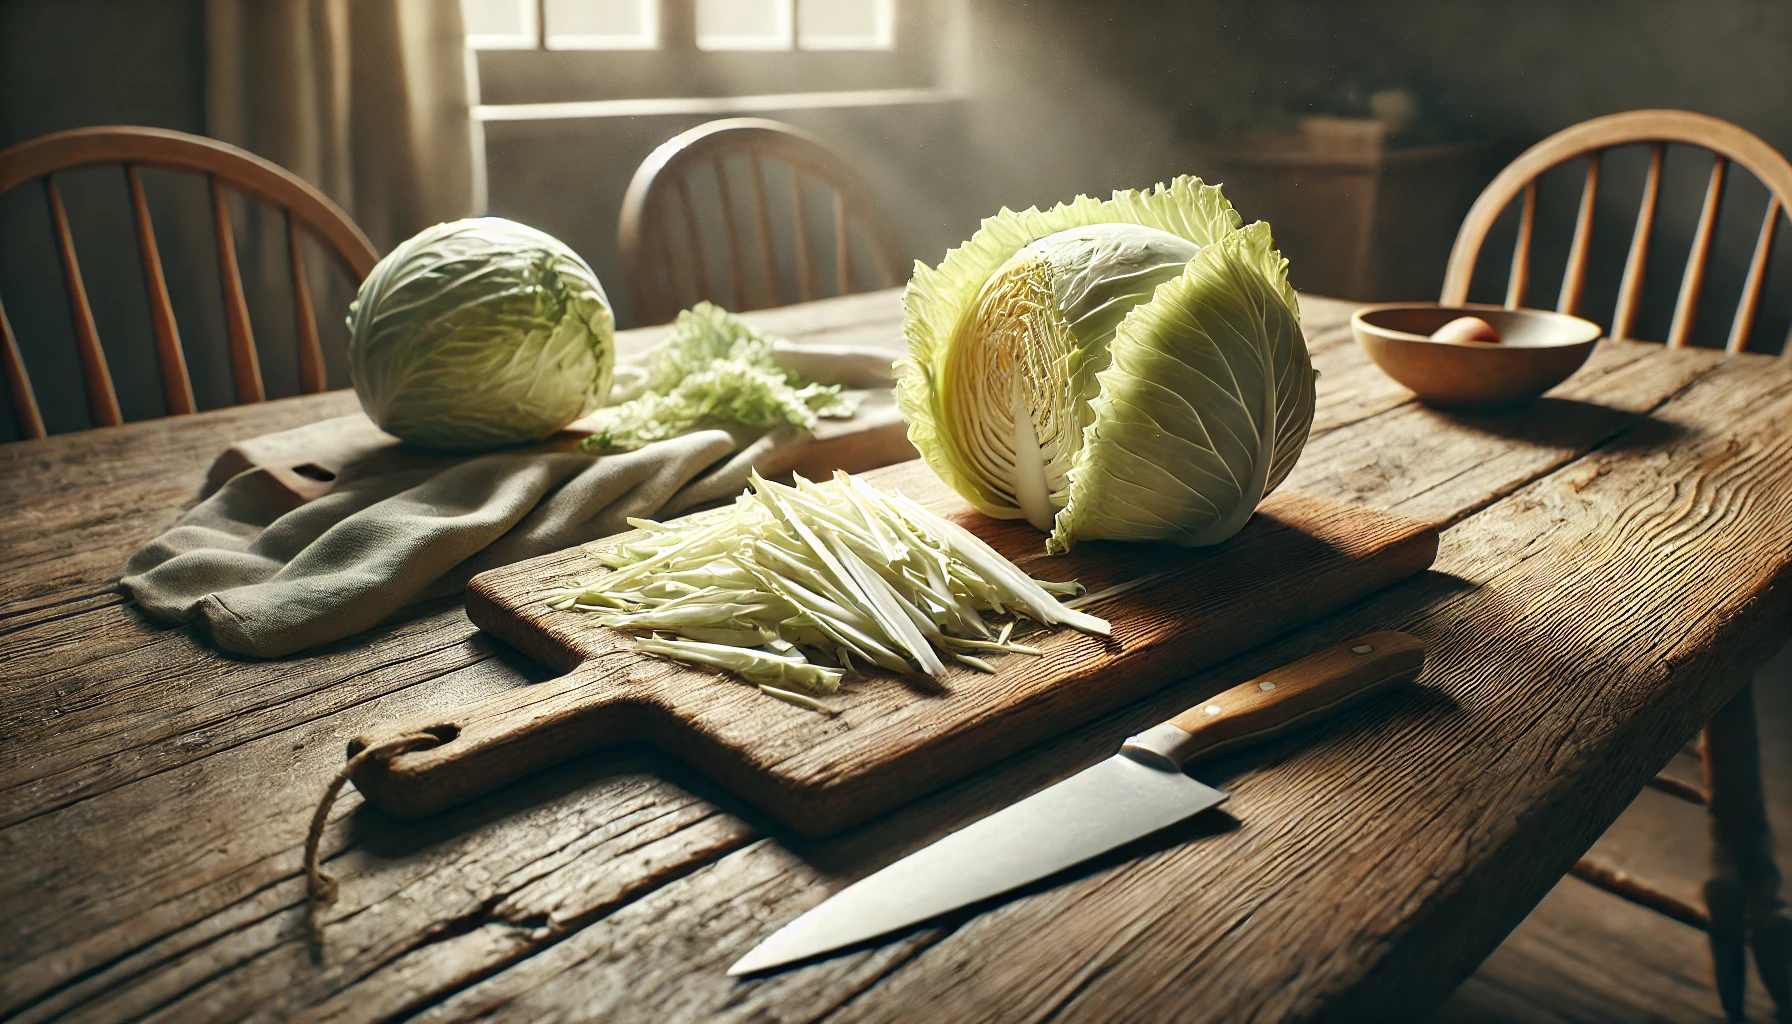
[[[1681,274],[1679,298],[1674,303],[1674,319],[1668,328],[1667,344],[1681,348],[1692,337],[1693,319],[1699,314],[1699,299],[1704,292],[1706,267],[1711,256],[1711,235],[1717,228],[1719,204],[1724,197],[1724,183],[1731,163],[1749,170],[1767,187],[1767,213],[1762,219],[1762,231],[1754,242],[1754,255],[1749,258],[1749,271],[1744,278],[1742,298],[1729,325],[1727,351],[1742,351],[1754,328],[1754,312],[1762,298],[1762,280],[1767,274],[1767,258],[1772,255],[1774,233],[1779,219],[1792,212],[1792,163],[1774,147],[1762,142],[1753,133],[1702,113],[1683,109],[1638,109],[1615,113],[1581,122],[1563,129],[1527,149],[1480,194],[1462,228],[1457,231],[1455,246],[1450,251],[1450,265],[1444,271],[1444,305],[1460,305],[1468,299],[1469,278],[1475,274],[1475,260],[1493,222],[1505,212],[1512,199],[1523,194],[1518,219],[1518,242],[1512,249],[1512,269],[1505,285],[1505,307],[1523,301],[1530,285],[1530,231],[1538,208],[1538,178],[1552,167],[1586,156],[1586,185],[1581,190],[1581,210],[1575,217],[1573,240],[1568,244],[1568,267],[1563,273],[1563,285],[1555,308],[1577,314],[1581,296],[1586,287],[1588,242],[1593,233],[1593,203],[1598,197],[1600,154],[1618,145],[1649,143],[1649,176],[1643,179],[1643,201],[1636,213],[1636,228],[1631,235],[1631,251],[1624,262],[1624,276],[1618,283],[1618,305],[1611,317],[1607,334],[1615,339],[1631,337],[1636,326],[1636,308],[1643,287],[1643,273],[1649,264],[1649,242],[1654,231],[1656,210],[1661,201],[1661,160],[1668,143],[1693,145],[1715,154],[1711,178],[1704,192],[1704,206],[1699,212],[1699,226],[1693,230],[1692,251],[1686,256],[1686,269]],[[1781,355],[1792,357],[1792,343]]]

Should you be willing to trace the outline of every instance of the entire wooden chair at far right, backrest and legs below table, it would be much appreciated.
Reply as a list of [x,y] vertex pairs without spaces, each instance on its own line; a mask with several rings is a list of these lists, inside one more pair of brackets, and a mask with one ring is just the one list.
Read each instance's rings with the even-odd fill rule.
[[[1570,160],[1588,158],[1586,183],[1581,190],[1581,208],[1575,217],[1573,240],[1555,308],[1581,314],[1586,287],[1593,208],[1598,195],[1600,154],[1618,145],[1645,143],[1650,147],[1649,172],[1643,179],[1641,208],[1631,237],[1629,256],[1618,285],[1609,335],[1631,339],[1636,325],[1643,273],[1649,262],[1649,242],[1654,231],[1656,210],[1661,199],[1661,163],[1670,143],[1692,145],[1715,152],[1717,161],[1706,183],[1704,204],[1693,230],[1692,249],[1681,273],[1679,298],[1668,328],[1667,346],[1681,348],[1692,337],[1699,298],[1706,283],[1711,256],[1711,237],[1729,165],[1754,174],[1767,187],[1769,201],[1762,230],[1749,258],[1742,298],[1731,317],[1726,350],[1744,351],[1754,328],[1754,312],[1762,298],[1762,280],[1772,253],[1779,221],[1792,210],[1792,163],[1776,149],[1729,122],[1677,109],[1641,109],[1598,117],[1559,131],[1532,145],[1500,172],[1480,194],[1462,221],[1450,265],[1444,271],[1444,305],[1468,299],[1469,278],[1487,231],[1500,213],[1520,201],[1518,242],[1507,274],[1505,305],[1523,301],[1530,283],[1530,237],[1538,206],[1538,178]],[[1781,351],[1792,359],[1792,343]],[[1754,945],[1754,959],[1762,981],[1781,1017],[1792,1015],[1792,918],[1779,895],[1779,868],[1772,857],[1772,834],[1767,825],[1767,807],[1762,787],[1760,737],[1754,716],[1754,687],[1745,685],[1710,723],[1706,723],[1699,753],[1704,762],[1704,787],[1693,787],[1670,777],[1650,780],[1654,789],[1701,803],[1711,821],[1713,877],[1704,886],[1706,907],[1695,907],[1663,893],[1643,881],[1602,864],[1591,857],[1581,859],[1572,870],[1606,891],[1620,895],[1683,924],[1702,927],[1710,934],[1713,974],[1719,999],[1731,1020],[1744,1013],[1747,985],[1747,945]]]

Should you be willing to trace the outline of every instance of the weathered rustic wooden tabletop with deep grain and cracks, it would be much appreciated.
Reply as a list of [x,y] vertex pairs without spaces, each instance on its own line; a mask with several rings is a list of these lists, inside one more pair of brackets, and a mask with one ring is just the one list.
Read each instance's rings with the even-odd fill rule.
[[[308,656],[222,656],[115,590],[269,402],[0,445],[0,1017],[20,1020],[1410,1019],[1443,999],[1785,640],[1792,366],[1602,344],[1498,416],[1410,402],[1306,298],[1285,484],[1446,527],[1435,572],[844,836],[787,836],[650,750],[394,821],[349,793],[328,961],[299,848],[376,723],[545,673],[455,601]],[[894,339],[894,292],[760,314]],[[1197,699],[1398,628],[1416,685],[1211,764],[1213,812],[1020,898],[787,974],[796,913]]]

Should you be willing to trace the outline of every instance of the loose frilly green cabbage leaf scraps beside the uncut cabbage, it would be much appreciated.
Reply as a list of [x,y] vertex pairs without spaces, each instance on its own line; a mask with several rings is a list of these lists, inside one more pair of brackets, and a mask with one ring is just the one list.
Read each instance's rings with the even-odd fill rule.
[[846,418],[858,402],[837,384],[812,384],[772,360],[774,339],[738,316],[701,301],[677,314],[672,334],[647,353],[643,393],[593,414],[586,452],[629,452],[697,427],[815,429],[817,416]]

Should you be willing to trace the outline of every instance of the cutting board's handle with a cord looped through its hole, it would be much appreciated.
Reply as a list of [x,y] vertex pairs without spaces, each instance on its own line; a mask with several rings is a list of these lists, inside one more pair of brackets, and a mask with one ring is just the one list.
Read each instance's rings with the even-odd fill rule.
[[439,717],[394,721],[349,741],[348,755],[428,733],[426,750],[375,757],[355,771],[355,789],[400,818],[423,818],[600,746],[645,739],[652,705],[629,674],[640,655],[507,690]]

